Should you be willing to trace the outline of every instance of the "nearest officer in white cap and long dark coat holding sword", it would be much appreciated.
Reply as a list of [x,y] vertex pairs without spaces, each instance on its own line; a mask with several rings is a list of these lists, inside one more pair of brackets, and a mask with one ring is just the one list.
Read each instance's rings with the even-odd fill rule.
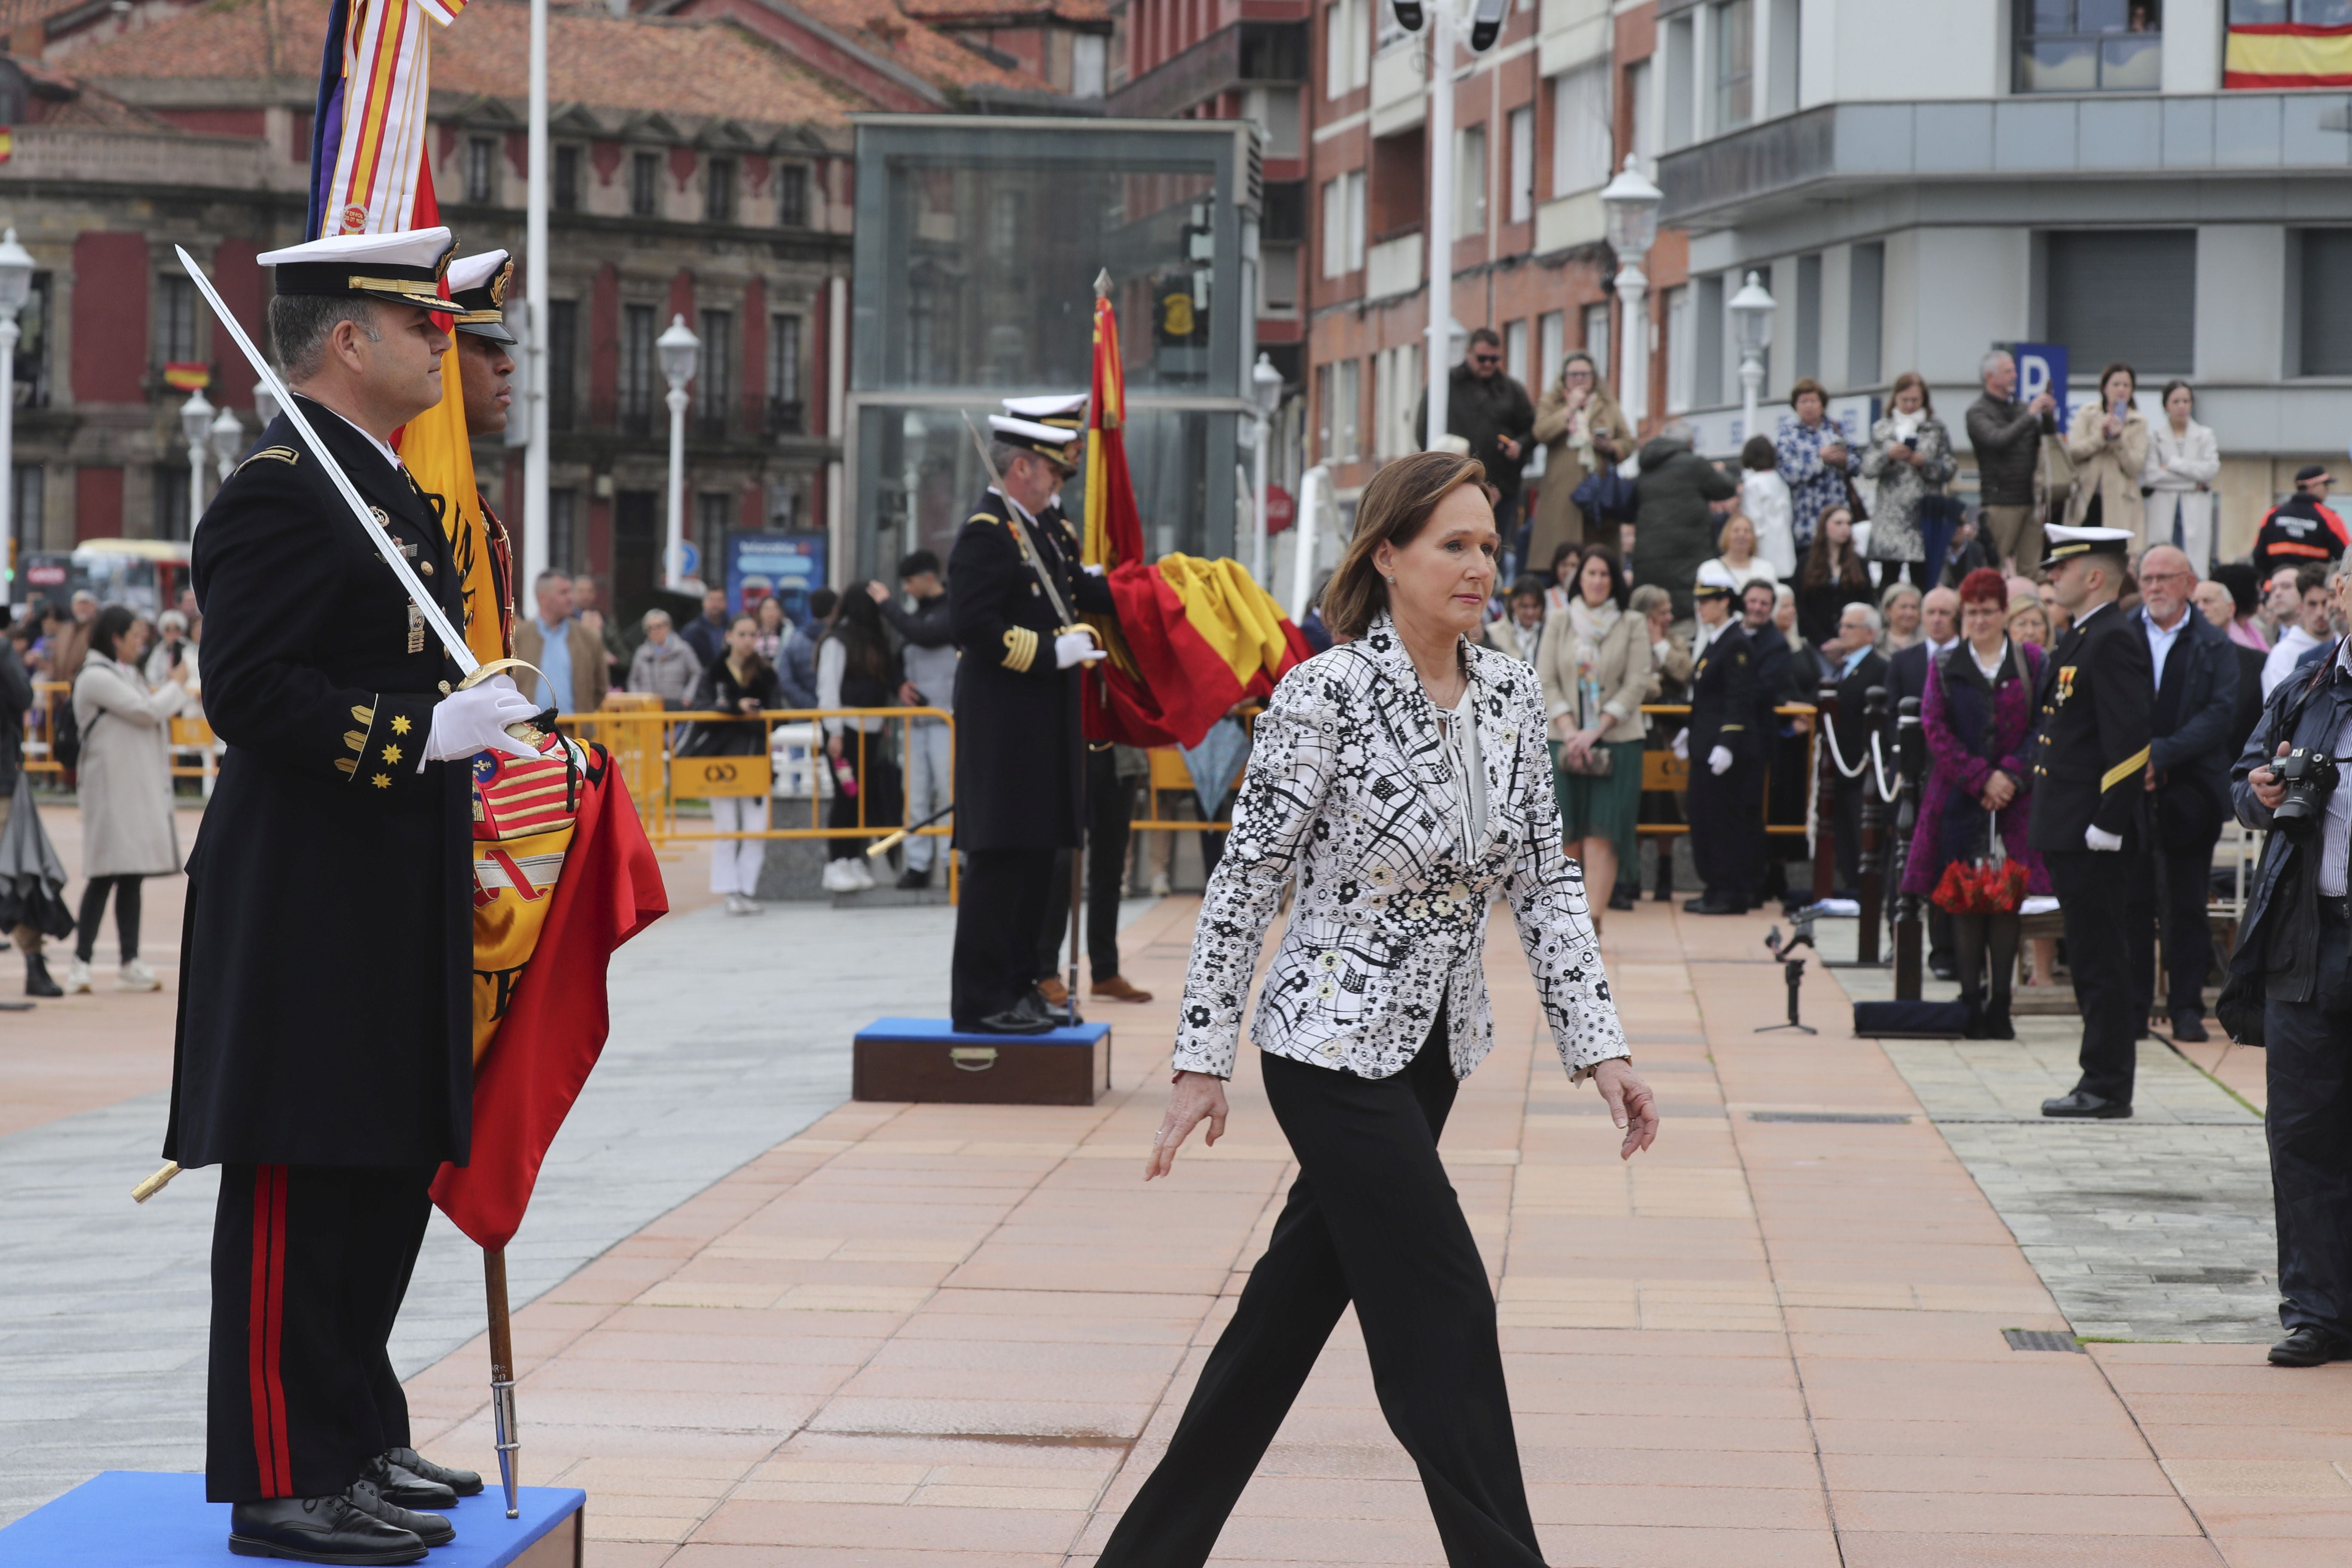
[[[440,402],[449,230],[270,252],[280,414],[195,531],[205,717],[226,741],[188,858],[165,1157],[221,1166],[205,1490],[230,1549],[407,1563],[480,1490],[409,1446],[386,1340],[426,1190],[473,1110],[470,759],[529,755],[534,705],[456,665],[381,559],[452,621],[459,574],[390,435]],[[341,468],[369,522],[334,489]]]

